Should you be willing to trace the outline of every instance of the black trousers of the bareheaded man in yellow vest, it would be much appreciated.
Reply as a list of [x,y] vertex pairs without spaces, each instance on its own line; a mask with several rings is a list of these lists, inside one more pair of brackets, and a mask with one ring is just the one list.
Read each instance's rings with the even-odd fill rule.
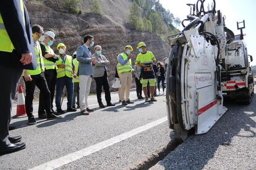
[[49,92],[44,73],[41,73],[40,75],[31,76],[31,78],[32,81],[25,81],[24,79],[26,86],[25,106],[28,118],[34,117],[33,99],[35,86],[37,86],[38,89],[40,89],[40,94],[43,94],[43,97],[41,97],[40,100],[43,100],[43,103],[45,104],[44,108],[46,110],[47,115],[51,115],[51,93]]

